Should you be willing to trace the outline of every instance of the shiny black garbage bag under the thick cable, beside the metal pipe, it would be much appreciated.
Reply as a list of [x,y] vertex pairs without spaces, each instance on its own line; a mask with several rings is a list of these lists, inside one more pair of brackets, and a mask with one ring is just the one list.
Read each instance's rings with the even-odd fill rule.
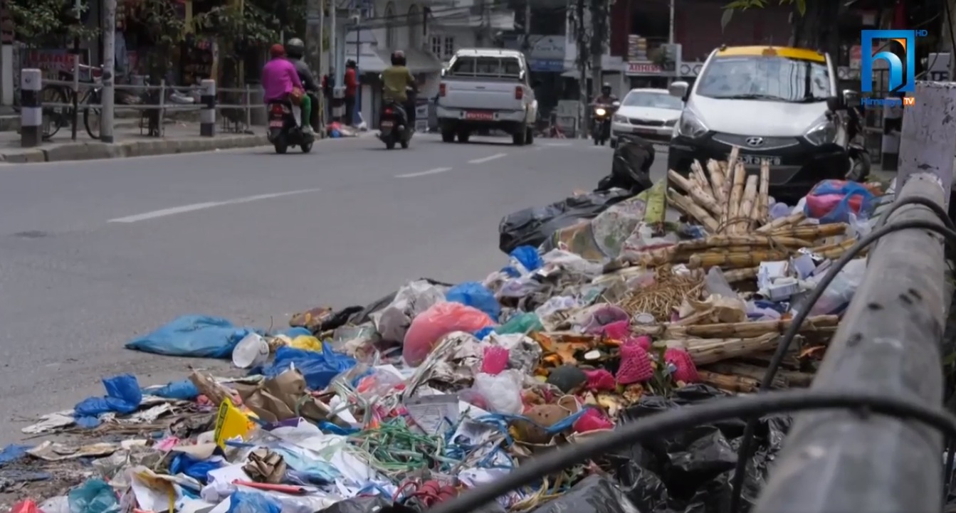
[[[632,422],[722,395],[726,394],[706,385],[684,387],[667,398],[648,395],[621,419]],[[741,494],[743,511],[756,501],[790,423],[790,417],[760,419]],[[609,455],[608,462],[641,513],[731,513],[730,482],[746,424],[735,418],[697,426],[621,449]]]

